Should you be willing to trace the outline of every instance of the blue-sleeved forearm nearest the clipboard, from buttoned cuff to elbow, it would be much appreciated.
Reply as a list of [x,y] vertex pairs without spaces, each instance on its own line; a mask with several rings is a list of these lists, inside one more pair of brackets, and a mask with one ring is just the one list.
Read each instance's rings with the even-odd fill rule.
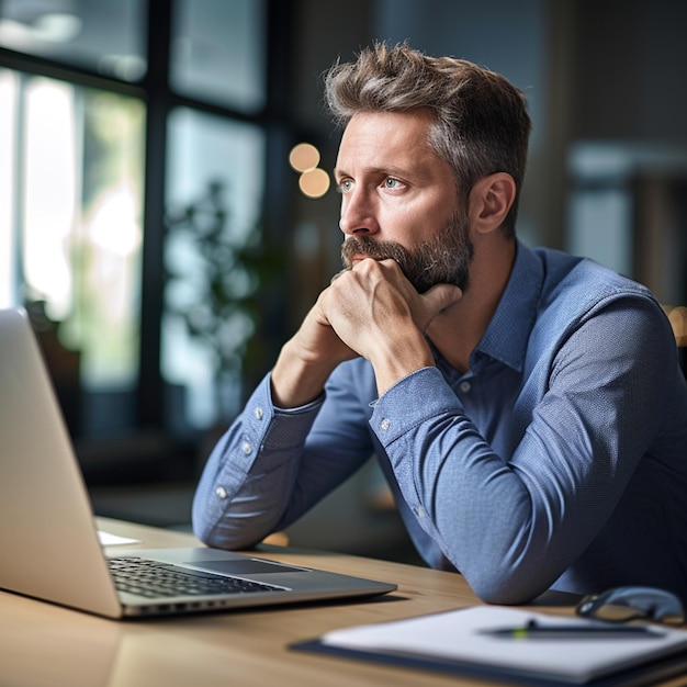
[[439,371],[421,370],[392,387],[378,402],[372,428],[418,523],[475,592],[494,600],[507,581],[520,600],[537,596],[539,575],[518,578],[523,552],[541,555],[530,538],[528,485],[485,441]]

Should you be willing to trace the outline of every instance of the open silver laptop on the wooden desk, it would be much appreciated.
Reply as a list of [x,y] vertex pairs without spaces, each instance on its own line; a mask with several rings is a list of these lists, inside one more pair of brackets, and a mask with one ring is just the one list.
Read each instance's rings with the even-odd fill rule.
[[206,547],[110,558],[23,308],[0,309],[0,588],[108,618],[372,597],[396,585]]

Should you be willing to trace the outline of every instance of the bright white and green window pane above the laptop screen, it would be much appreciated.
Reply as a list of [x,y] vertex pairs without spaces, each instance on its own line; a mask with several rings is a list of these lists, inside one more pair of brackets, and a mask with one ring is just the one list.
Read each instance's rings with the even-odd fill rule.
[[4,305],[44,302],[85,386],[137,373],[143,131],[136,99],[0,70]]

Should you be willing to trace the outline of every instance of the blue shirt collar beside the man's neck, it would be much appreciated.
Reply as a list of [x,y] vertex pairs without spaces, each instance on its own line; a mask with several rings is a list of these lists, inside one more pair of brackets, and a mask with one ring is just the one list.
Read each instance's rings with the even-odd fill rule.
[[508,283],[486,331],[470,357],[471,369],[477,369],[480,359],[488,356],[518,372],[522,370],[543,278],[543,266],[537,254],[518,240]]

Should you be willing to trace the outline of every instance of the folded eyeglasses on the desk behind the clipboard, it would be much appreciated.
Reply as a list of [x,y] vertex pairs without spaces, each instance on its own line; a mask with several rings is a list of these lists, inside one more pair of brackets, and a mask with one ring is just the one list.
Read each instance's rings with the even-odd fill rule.
[[646,619],[667,624],[683,624],[685,609],[671,592],[656,587],[616,587],[602,594],[585,596],[577,615],[610,622]]

